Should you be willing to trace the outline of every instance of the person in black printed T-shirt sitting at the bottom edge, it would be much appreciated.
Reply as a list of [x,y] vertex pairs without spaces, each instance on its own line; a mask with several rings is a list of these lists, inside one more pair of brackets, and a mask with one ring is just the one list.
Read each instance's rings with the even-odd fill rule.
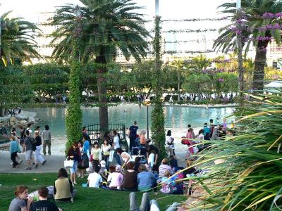
[[32,203],[29,211],[62,211],[61,208],[58,208],[55,203],[52,203],[51,201],[47,200],[48,193],[49,191],[47,187],[40,187],[38,189],[39,201]]

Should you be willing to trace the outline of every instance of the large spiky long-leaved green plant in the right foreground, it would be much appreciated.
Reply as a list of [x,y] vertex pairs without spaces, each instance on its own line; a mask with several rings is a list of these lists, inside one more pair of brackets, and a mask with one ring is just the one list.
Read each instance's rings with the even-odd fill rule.
[[[235,114],[236,136],[212,141],[212,148],[200,154],[195,165],[210,172],[196,178],[202,193],[190,210],[281,209],[276,198],[282,193],[282,93],[277,93],[254,96],[256,102]],[[219,159],[223,162],[215,165]]]

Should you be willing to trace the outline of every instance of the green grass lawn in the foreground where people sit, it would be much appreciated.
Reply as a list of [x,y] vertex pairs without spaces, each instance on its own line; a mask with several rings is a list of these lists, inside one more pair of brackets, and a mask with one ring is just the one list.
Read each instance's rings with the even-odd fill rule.
[[[0,174],[0,210],[8,210],[11,200],[14,198],[13,191],[16,186],[24,184],[29,188],[29,193],[37,190],[40,186],[50,186],[56,180],[55,173],[48,174]],[[86,179],[78,179],[75,188],[78,190],[74,203],[58,204],[64,211],[66,210],[129,210],[128,191],[109,191],[96,188],[82,188],[81,184]],[[141,203],[142,193],[136,192],[137,203]],[[165,195],[158,192],[149,193],[150,199],[157,199],[161,210],[166,210],[173,202],[183,202],[185,196]],[[52,200],[54,201],[54,200]]]

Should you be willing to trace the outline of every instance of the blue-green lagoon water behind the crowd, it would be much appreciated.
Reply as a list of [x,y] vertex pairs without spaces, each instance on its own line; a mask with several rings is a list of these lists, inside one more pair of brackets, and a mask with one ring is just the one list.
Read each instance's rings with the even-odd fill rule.
[[[63,154],[66,141],[66,108],[30,108],[28,111],[37,113],[38,124],[44,129],[44,124],[49,124],[52,134],[52,150]],[[175,136],[183,136],[187,130],[187,124],[194,128],[203,127],[209,119],[221,123],[223,118],[231,115],[234,108],[191,108],[185,106],[165,106],[165,128],[171,129]],[[152,107],[149,106],[149,126],[151,125]],[[99,124],[99,108],[82,107],[83,125]],[[109,107],[109,123],[123,123],[130,127],[133,121],[137,121],[140,129],[147,129],[147,107],[137,104],[120,104]],[[226,122],[231,122],[228,119]],[[53,150],[53,151],[54,151]]]

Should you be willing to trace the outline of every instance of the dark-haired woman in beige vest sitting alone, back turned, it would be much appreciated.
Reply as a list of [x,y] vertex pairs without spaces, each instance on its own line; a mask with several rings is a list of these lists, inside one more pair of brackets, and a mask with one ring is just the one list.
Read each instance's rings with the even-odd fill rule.
[[73,202],[76,191],[73,189],[73,183],[68,178],[68,172],[61,168],[58,172],[58,179],[54,184],[54,198],[56,202]]

